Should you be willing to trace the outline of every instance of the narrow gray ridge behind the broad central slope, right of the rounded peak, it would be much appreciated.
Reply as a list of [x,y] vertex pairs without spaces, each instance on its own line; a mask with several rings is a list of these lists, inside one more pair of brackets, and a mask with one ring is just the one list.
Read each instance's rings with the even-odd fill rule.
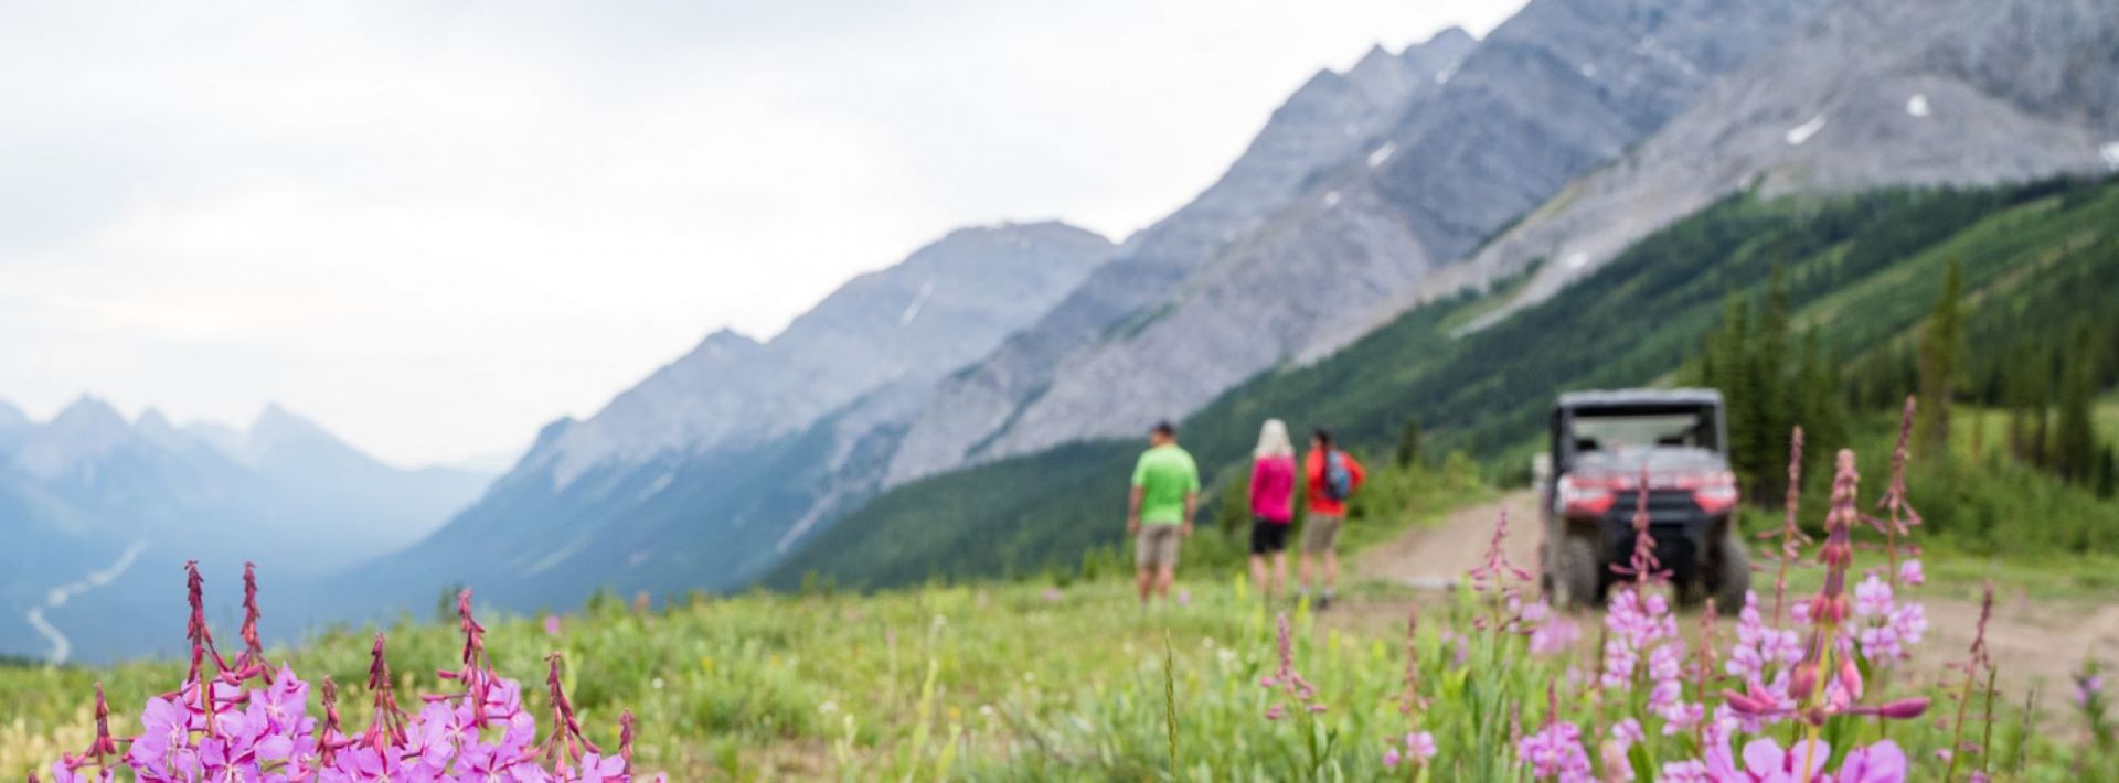
[[1312,76],[1218,182],[1127,239],[1117,260],[1049,315],[947,379],[898,444],[886,482],[947,470],[983,453],[996,436],[1013,430],[1026,400],[1066,377],[1062,368],[1070,364],[1064,362],[1087,345],[1151,322],[1153,305],[1193,271],[1274,220],[1312,190],[1312,178],[1322,167],[1363,150],[1420,95],[1437,91],[1473,44],[1468,34],[1452,28],[1396,57],[1377,49],[1346,74]]

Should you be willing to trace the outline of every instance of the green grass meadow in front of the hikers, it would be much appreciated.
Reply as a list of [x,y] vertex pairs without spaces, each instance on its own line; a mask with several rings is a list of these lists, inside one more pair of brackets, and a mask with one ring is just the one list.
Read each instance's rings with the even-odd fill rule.
[[[557,637],[534,620],[492,622],[489,643],[500,669],[523,679],[542,673],[545,652],[566,652],[570,694],[591,736],[612,743],[617,713],[634,709],[640,766],[680,781],[1163,779],[1172,732],[1185,779],[1384,775],[1382,747],[1409,724],[1396,707],[1401,633],[1326,626],[1295,612],[1297,667],[1329,711],[1271,722],[1263,713],[1278,696],[1259,688],[1278,662],[1271,614],[1227,571],[1197,573],[1185,588],[1189,605],[1151,612],[1121,580],[1064,590],[746,595],[655,614],[604,603],[566,618]],[[1403,616],[1407,607],[1373,609]],[[1591,720],[1581,686],[1564,673],[1593,664],[1587,648],[1574,660],[1528,656],[1519,637],[1473,631],[1479,612],[1471,595],[1424,612],[1420,728],[1443,745],[1435,779],[1521,779],[1507,726],[1543,722],[1549,686],[1568,720]],[[1452,629],[1468,639],[1462,654],[1443,635]],[[424,671],[449,662],[456,645],[445,624],[390,629],[400,688],[439,690]],[[364,648],[364,635],[337,635],[273,658],[348,684],[360,681]],[[136,707],[180,677],[176,662],[0,671],[0,777],[19,779],[30,764],[87,743],[93,681],[106,684],[121,715],[114,730],[125,734]],[[1892,692],[1920,692],[1911,679]],[[1174,728],[1165,694],[1176,698]],[[530,700],[542,709],[540,694]],[[1632,700],[1638,694],[1619,698]],[[358,688],[341,700],[362,703]],[[2043,736],[2026,745],[2013,705],[1998,705],[1994,755],[2011,760],[2024,747],[2030,779],[2068,779],[2070,749]],[[356,728],[367,724],[367,709],[345,713]],[[1837,730],[1875,739],[1867,722]],[[1924,751],[1943,743],[1933,722],[1901,724],[1892,736],[1916,749],[1918,779],[1941,772]],[[1657,739],[1651,751],[1661,760],[1691,753],[1685,734]]]

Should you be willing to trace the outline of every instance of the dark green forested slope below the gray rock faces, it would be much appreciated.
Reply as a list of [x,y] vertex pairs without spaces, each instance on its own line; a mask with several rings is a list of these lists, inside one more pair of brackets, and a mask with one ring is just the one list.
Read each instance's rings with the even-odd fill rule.
[[[1244,459],[1265,417],[1299,432],[1331,427],[1367,453],[1420,421],[1428,453],[1492,457],[1530,442],[1560,389],[1668,379],[1699,349],[1723,303],[1757,296],[1776,265],[1797,328],[1816,328],[1848,366],[1888,362],[1935,303],[1949,260],[1964,269],[1975,351],[2075,324],[2085,309],[2119,303],[2119,186],[1733,197],[1481,332],[1445,334],[1456,315],[1492,305],[1462,296],[1415,309],[1314,366],[1265,372],[1191,415],[1182,438],[1208,474],[1231,474],[1225,466]],[[1892,389],[1905,392],[1911,379]],[[1136,449],[1076,444],[898,487],[812,540],[769,584],[812,571],[882,586],[1079,563],[1119,540]]]

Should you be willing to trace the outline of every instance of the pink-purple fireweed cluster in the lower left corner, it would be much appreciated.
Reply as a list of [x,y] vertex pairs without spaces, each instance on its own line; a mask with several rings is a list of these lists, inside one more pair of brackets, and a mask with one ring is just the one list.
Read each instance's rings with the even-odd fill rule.
[[[153,696],[140,713],[140,736],[119,755],[110,736],[108,705],[95,688],[97,736],[87,753],[51,766],[59,783],[112,781],[123,766],[140,781],[629,781],[631,713],[621,720],[619,751],[604,755],[574,717],[559,688],[559,656],[547,677],[553,734],[538,743],[536,720],[523,707],[521,686],[492,671],[485,629],[470,616],[470,590],[458,595],[464,631],[462,669],[441,679],[462,686],[422,696],[407,713],[392,694],[384,637],[375,637],[369,664],[373,722],[364,732],[341,728],[337,686],[322,679],[324,717],[309,715],[309,684],[286,664],[267,675],[256,635],[256,580],[244,569],[246,650],[225,660],[206,626],[197,563],[186,565],[191,590],[191,673],[172,692]],[[210,667],[208,667],[210,664]],[[85,768],[95,766],[93,775]],[[659,781],[661,777],[657,777]],[[32,781],[36,781],[32,777]]]

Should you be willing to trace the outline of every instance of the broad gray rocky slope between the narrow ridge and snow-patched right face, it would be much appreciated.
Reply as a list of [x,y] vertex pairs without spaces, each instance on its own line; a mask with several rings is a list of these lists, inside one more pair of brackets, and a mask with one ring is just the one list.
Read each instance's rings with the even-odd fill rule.
[[[1375,307],[1619,157],[1822,2],[1530,2],[1204,258],[1142,271],[1129,296],[1085,290],[1115,326],[1040,324],[1017,341],[1036,353],[1004,349],[945,387],[890,480],[1134,434],[1337,349]],[[1100,277],[1117,288],[1134,271],[1121,260]]]

